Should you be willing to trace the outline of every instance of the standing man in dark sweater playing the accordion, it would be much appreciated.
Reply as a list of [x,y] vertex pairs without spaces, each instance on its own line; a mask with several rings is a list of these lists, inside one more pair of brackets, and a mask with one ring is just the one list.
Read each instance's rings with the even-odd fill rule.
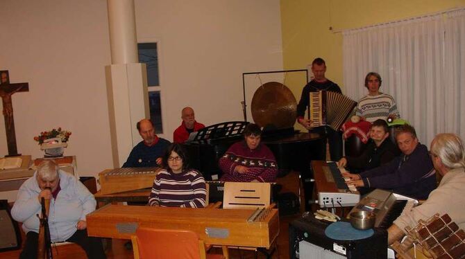
[[[325,77],[326,63],[321,57],[317,57],[312,62],[312,73],[314,78],[303,87],[301,100],[297,105],[297,122],[303,125],[311,133],[321,134],[328,138],[330,144],[330,155],[332,161],[338,161],[342,157],[342,134],[332,130],[330,127],[310,127],[310,119],[304,118],[305,110],[310,105],[310,92],[316,91],[334,91],[342,93],[339,86]],[[326,145],[325,152],[326,154]]]

